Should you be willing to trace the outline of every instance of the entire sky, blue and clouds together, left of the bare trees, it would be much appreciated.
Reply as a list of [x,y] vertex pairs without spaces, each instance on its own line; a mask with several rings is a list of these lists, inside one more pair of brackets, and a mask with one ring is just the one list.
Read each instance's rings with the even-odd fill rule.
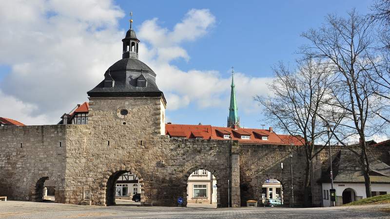
[[[0,27],[6,33],[0,36],[0,100],[7,101],[8,108],[2,105],[0,116],[28,125],[53,124],[63,112],[87,101],[86,91],[120,58],[120,40],[129,27],[128,14],[133,11],[134,29],[144,45],[140,57],[158,75],[158,86],[168,99],[168,122],[226,126],[230,68],[234,66],[241,125],[260,128],[264,124],[259,121],[263,119],[262,112],[252,98],[270,92],[265,83],[272,80],[274,64],[283,61],[293,66],[299,57],[295,52],[306,42],[300,34],[320,27],[330,13],[345,16],[356,8],[367,14],[371,3],[89,0],[75,8],[71,1],[48,0],[40,5],[6,2],[3,11],[0,9]],[[206,27],[195,28],[204,33],[193,39],[185,36],[183,40],[173,40],[171,35],[175,35],[178,23],[197,19],[198,15],[191,14],[193,9],[203,13],[199,22],[201,18],[210,21]],[[171,40],[169,49],[175,48],[181,55],[164,61],[161,55],[151,55],[165,45],[156,45],[158,39],[149,37],[154,33],[145,29],[147,23],[165,31],[163,36]],[[190,32],[191,26],[186,28],[196,33]],[[47,83],[39,84],[39,77]],[[179,80],[183,77],[188,80]],[[187,87],[192,88],[186,90]]]

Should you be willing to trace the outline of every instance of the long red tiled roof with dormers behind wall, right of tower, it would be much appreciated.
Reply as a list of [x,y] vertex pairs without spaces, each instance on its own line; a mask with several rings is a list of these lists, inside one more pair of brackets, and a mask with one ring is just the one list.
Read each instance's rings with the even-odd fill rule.
[[[273,145],[303,145],[299,141],[299,137],[290,135],[278,135],[275,132],[270,132],[267,129],[257,128],[227,128],[214,127],[210,125],[178,125],[166,124],[165,131],[167,135],[174,137],[196,138],[203,139],[227,140],[223,138],[224,134],[229,134],[231,139],[237,140],[239,143],[247,144],[273,144]],[[181,135],[177,135],[180,132]],[[232,134],[231,134],[232,133]],[[176,134],[176,135],[175,135]],[[250,139],[241,139],[241,135],[250,135]],[[262,140],[262,136],[268,136],[268,140]]]

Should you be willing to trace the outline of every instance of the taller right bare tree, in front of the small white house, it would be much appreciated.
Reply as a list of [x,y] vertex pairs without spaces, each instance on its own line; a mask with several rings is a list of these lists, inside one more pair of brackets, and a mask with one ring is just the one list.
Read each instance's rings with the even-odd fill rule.
[[348,148],[359,156],[365,179],[366,196],[371,197],[370,163],[366,137],[376,131],[374,113],[378,102],[375,98],[377,86],[367,76],[374,71],[375,65],[370,60],[375,41],[372,19],[357,15],[352,10],[348,18],[329,15],[326,23],[318,30],[302,34],[310,41],[301,49],[305,55],[323,58],[332,67],[334,83],[331,85],[332,98],[328,100],[329,123],[341,120],[338,128],[331,131],[336,139],[348,146],[351,136],[359,136],[359,144]]

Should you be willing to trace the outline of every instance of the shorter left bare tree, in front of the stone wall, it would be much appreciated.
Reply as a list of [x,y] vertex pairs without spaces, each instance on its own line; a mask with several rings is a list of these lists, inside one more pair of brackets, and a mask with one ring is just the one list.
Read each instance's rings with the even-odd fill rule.
[[327,65],[320,65],[318,61],[306,57],[297,62],[294,71],[279,63],[273,70],[275,79],[269,85],[273,95],[255,97],[265,108],[265,116],[271,123],[292,136],[302,137],[298,139],[306,155],[304,199],[307,205],[311,193],[312,159],[324,148],[314,144],[325,133],[317,113],[327,102],[330,84]]

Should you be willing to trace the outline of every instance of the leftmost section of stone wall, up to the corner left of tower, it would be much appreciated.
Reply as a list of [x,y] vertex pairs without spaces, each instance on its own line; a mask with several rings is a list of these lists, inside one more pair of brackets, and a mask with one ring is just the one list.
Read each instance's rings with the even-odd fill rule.
[[56,185],[56,201],[64,202],[65,130],[56,126],[0,127],[0,196],[36,201],[37,182],[49,178]]

